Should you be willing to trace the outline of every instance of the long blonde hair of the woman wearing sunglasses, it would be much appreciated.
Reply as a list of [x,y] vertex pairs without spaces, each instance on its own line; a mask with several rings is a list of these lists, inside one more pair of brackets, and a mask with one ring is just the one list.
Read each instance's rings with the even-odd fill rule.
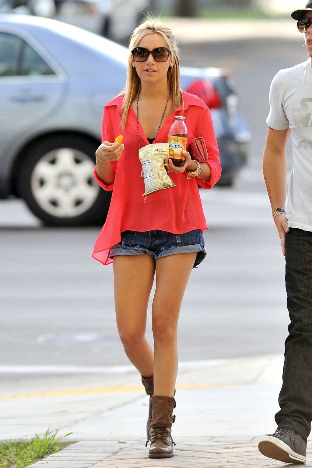
[[180,63],[179,63],[179,49],[177,44],[176,36],[167,24],[160,21],[157,18],[148,18],[144,23],[140,24],[134,29],[129,42],[129,59],[128,59],[128,70],[125,88],[120,95],[123,97],[122,105],[122,117],[121,126],[124,130],[127,121],[127,115],[131,106],[131,102],[136,98],[141,89],[141,81],[138,77],[135,67],[132,66],[132,54],[131,51],[137,47],[139,41],[146,34],[160,34],[167,44],[168,49],[171,51],[171,57],[173,60],[173,66],[169,66],[167,72],[167,80],[169,85],[169,95],[172,98],[171,112],[182,105],[183,96],[180,89]]

